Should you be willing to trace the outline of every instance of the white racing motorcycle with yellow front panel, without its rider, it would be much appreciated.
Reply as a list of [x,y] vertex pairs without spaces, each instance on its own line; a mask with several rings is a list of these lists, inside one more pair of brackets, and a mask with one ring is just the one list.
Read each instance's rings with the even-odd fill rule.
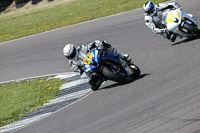
[[181,7],[170,10],[167,13],[165,23],[168,31],[181,37],[200,36],[200,26],[198,22],[192,16],[182,11]]

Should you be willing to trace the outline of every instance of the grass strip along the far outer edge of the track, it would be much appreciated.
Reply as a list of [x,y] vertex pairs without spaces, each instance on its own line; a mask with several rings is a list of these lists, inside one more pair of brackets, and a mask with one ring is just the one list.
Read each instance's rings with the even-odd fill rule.
[[[60,0],[61,1],[61,0]],[[155,3],[166,0],[152,0]],[[65,0],[0,14],[0,42],[142,7],[146,0]],[[143,15],[143,14],[141,14]]]

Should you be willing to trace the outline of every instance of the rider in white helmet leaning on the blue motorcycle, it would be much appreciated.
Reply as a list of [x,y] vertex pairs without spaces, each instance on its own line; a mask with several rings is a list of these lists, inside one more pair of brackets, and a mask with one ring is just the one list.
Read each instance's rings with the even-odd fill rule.
[[131,59],[128,58],[128,54],[123,54],[119,50],[113,48],[109,42],[107,41],[99,41],[95,40],[92,43],[86,44],[86,45],[81,45],[76,48],[73,44],[67,44],[63,48],[63,54],[67,59],[69,59],[69,64],[72,70],[75,72],[79,72],[81,78],[88,78],[89,84],[91,85],[91,89],[95,90],[96,86],[100,86],[106,79],[100,79],[98,80],[94,79],[93,73],[91,71],[85,72],[84,71],[84,62],[83,58],[84,55],[88,53],[88,51],[98,48],[103,51],[108,51],[115,53],[118,55],[120,58],[130,61]]

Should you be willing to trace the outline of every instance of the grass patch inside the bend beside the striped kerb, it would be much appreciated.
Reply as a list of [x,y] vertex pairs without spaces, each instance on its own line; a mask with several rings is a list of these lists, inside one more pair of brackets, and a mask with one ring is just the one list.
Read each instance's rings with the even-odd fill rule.
[[52,99],[62,82],[60,79],[39,78],[0,84],[0,127]]

